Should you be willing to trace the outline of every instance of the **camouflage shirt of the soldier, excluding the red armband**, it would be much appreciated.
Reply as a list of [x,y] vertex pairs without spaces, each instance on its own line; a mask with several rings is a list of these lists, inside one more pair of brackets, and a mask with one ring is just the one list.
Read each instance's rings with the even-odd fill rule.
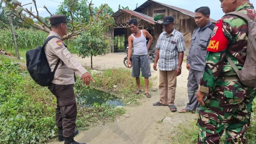
[[[245,3],[235,11],[247,14],[252,20],[256,21],[256,11],[251,3]],[[199,91],[205,93],[213,92],[219,76],[236,75],[232,66],[225,59],[226,54],[229,55],[238,69],[242,68],[246,59],[248,40],[247,21],[234,15],[224,16],[221,20],[222,32],[228,41],[228,45],[220,52],[207,52],[206,67],[204,68],[198,88]]]

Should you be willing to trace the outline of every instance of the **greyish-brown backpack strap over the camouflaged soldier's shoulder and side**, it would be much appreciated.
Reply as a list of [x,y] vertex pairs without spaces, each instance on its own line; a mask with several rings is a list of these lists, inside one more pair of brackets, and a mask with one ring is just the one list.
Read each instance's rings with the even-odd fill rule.
[[[242,12],[238,12],[238,11],[229,12],[229,13],[225,14],[224,16],[226,16],[226,15],[235,15],[235,16],[239,16],[241,18],[244,18],[247,22],[251,21],[251,18],[248,15],[246,15],[246,14],[244,14]],[[225,57],[228,60],[229,64],[232,66],[232,68],[237,73],[239,70],[236,67],[236,65],[234,64],[234,62],[231,60],[231,58],[228,56],[227,53],[226,53]]]

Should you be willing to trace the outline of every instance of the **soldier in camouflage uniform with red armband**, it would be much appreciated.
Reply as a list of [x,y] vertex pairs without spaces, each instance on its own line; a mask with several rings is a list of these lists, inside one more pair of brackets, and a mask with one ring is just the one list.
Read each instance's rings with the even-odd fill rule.
[[[225,14],[240,11],[256,20],[256,11],[249,0],[220,2]],[[197,92],[201,103],[198,144],[218,144],[224,129],[225,144],[245,143],[256,87],[242,85],[225,55],[241,69],[246,59],[247,36],[247,21],[238,16],[224,16],[215,25]],[[207,98],[203,101],[205,95]]]

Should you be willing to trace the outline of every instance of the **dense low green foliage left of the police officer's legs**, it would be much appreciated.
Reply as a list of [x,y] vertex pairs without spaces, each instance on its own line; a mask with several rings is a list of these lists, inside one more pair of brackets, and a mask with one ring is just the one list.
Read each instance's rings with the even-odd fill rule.
[[0,141],[41,143],[54,137],[54,109],[26,93],[27,73],[10,60],[0,61],[0,73]]

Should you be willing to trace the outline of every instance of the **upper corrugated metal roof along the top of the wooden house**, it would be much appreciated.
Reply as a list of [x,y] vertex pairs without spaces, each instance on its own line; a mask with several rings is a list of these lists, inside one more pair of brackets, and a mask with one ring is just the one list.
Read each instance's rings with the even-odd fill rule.
[[[156,2],[160,5],[163,5],[163,6],[166,6],[166,7],[169,7],[170,9],[173,9],[173,10],[176,10],[176,11],[179,11],[181,12],[182,14],[185,14],[185,15],[188,15],[188,16],[191,16],[194,18],[194,15],[195,13],[192,12],[192,11],[188,11],[188,10],[185,10],[185,9],[181,9],[181,8],[178,8],[178,7],[175,7],[175,6],[171,6],[171,5],[167,5],[167,4],[163,4],[161,2],[158,2],[158,1],[154,1],[154,0],[148,0],[146,2],[144,2],[144,4],[140,5],[137,9],[135,9],[134,11],[142,11],[143,9],[145,9],[146,7],[148,7],[149,5],[151,5],[153,2]],[[210,18],[210,21],[215,23],[216,20]]]

